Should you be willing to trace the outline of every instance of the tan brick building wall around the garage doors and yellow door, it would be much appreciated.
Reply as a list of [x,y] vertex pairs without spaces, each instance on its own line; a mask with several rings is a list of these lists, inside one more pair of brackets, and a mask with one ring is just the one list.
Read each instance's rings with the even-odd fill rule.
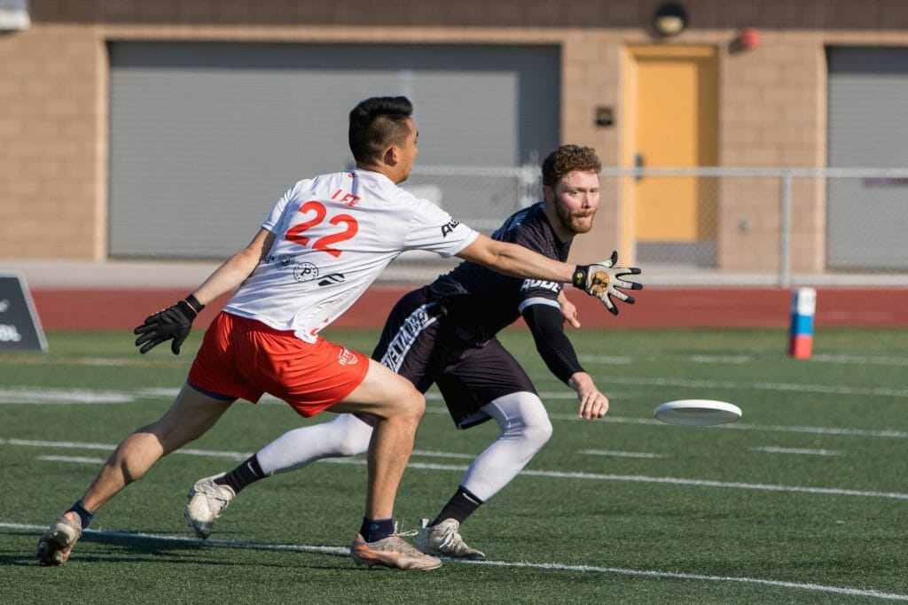
[[[562,48],[564,141],[595,146],[619,165],[627,44],[653,44],[657,0],[32,0],[32,26],[0,34],[0,257],[104,259],[108,40],[556,43]],[[719,161],[728,166],[823,166],[828,44],[908,45],[899,0],[686,0],[690,28],[671,44],[709,44],[719,55]],[[734,52],[738,28],[762,44]],[[597,128],[597,106],[617,125]],[[772,270],[774,185],[729,183],[719,247],[724,268]],[[795,205],[795,270],[823,266],[824,190],[808,185]],[[593,236],[621,241],[617,187]],[[741,220],[755,229],[742,232]],[[772,249],[771,254],[761,251]]]

